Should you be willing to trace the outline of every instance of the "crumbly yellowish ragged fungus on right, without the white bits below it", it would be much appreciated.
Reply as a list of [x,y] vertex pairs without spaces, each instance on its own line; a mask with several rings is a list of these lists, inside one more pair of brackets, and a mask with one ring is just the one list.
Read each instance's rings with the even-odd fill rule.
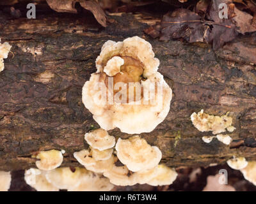
[[204,110],[200,112],[192,113],[191,121],[193,125],[201,132],[212,131],[212,134],[216,135],[226,131],[232,132],[234,128],[232,126],[232,117],[226,115],[215,116],[204,113]]

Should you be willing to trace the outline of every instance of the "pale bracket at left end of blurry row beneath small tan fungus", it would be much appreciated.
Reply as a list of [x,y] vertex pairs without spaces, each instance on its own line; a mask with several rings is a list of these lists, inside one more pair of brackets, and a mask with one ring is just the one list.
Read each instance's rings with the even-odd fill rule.
[[45,178],[45,172],[36,168],[30,168],[25,171],[24,180],[26,183],[36,189],[36,191],[59,191],[58,187],[53,186]]

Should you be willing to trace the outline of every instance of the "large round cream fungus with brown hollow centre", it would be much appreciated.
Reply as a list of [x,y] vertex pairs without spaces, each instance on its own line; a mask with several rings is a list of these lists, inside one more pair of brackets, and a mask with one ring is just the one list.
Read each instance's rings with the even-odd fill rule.
[[139,134],[163,122],[172,89],[157,72],[154,55],[150,43],[138,36],[104,43],[82,98],[101,128]]

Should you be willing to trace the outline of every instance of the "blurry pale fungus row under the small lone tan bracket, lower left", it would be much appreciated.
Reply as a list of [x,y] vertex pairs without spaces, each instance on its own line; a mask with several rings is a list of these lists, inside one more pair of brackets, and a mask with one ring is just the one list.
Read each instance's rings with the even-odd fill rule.
[[113,188],[109,179],[78,167],[63,167],[49,171],[31,168],[25,171],[24,179],[36,191],[110,191]]

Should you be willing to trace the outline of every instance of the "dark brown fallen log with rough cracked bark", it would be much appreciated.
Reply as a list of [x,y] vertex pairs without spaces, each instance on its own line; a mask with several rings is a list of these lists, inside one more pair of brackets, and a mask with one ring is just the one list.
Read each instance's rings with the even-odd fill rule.
[[[151,133],[141,134],[163,152],[168,166],[208,166],[235,156],[255,158],[256,149],[230,148],[214,139],[204,143],[190,120],[193,112],[230,112],[242,141],[256,136],[256,35],[237,38],[214,52],[211,45],[153,40],[143,29],[154,19],[112,15],[100,27],[92,15],[36,13],[36,19],[0,15],[0,38],[12,45],[0,73],[0,170],[35,167],[32,154],[64,149],[61,166],[78,166],[73,152],[88,147],[84,133],[99,127],[84,108],[81,91],[95,72],[95,59],[107,40],[140,36],[152,44],[159,72],[172,87],[168,116]],[[139,124],[138,124],[139,125]],[[131,135],[118,129],[116,138]]]

